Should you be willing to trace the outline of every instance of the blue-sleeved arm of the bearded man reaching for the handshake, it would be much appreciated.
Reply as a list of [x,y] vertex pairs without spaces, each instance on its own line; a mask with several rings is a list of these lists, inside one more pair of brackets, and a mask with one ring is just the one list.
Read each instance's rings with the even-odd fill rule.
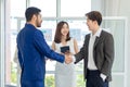
[[35,33],[34,44],[35,44],[36,48],[46,57],[48,57],[52,60],[56,60],[62,63],[65,61],[64,55],[58,54],[58,53],[54,52],[52,49],[50,49],[50,47],[48,46],[48,44],[44,40],[43,34],[40,30],[37,30]]

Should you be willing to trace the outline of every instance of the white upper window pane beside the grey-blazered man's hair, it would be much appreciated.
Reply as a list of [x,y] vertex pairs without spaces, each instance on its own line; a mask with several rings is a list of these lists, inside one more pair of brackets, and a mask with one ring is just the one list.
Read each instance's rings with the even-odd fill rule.
[[91,11],[91,0],[61,0],[61,16],[84,16]]

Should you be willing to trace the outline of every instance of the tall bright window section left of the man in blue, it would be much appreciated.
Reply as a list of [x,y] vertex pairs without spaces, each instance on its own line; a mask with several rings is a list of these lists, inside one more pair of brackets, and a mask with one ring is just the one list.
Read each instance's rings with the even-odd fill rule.
[[16,86],[20,80],[17,80],[17,64],[14,62],[14,53],[20,28],[18,20],[25,17],[26,0],[11,0],[10,7],[10,23],[6,23],[10,28],[5,28],[5,85]]

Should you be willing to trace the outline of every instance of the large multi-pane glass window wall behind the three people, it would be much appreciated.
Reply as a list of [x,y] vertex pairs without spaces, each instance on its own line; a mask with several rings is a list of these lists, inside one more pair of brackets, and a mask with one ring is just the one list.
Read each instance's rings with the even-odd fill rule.
[[[27,0],[11,0],[11,13],[10,13],[10,28],[6,28],[5,32],[5,84],[6,85],[15,85],[17,87],[20,85],[20,74],[17,74],[17,65],[14,63],[14,52],[16,46],[16,35],[17,32],[25,24],[25,10],[26,10],[26,1]],[[60,1],[60,2],[57,2]],[[42,22],[42,27],[39,29],[44,34],[44,38],[49,46],[52,45],[56,22],[66,21],[69,24],[70,36],[76,38],[78,41],[79,49],[82,47],[84,35],[89,32],[86,25],[86,18],[82,20],[82,16],[89,11],[91,11],[91,0],[28,0],[29,7],[38,7],[41,9],[41,14],[46,20]],[[17,4],[21,3],[21,4]],[[60,4],[56,4],[60,3]],[[27,5],[27,7],[28,7]],[[58,9],[57,9],[58,5]],[[56,17],[56,13],[60,14]],[[67,17],[63,18],[64,16]],[[69,17],[68,17],[69,16]],[[48,18],[50,17],[50,18]],[[52,17],[52,18],[51,18]],[[61,18],[62,17],[62,18]],[[72,20],[72,17],[78,17],[79,20]],[[81,17],[81,20],[80,20]],[[69,20],[68,20],[69,18]],[[125,84],[125,20],[108,20],[105,18],[103,21],[102,27],[105,30],[110,32],[114,35],[115,39],[115,61],[113,66],[113,75],[114,83],[110,86],[117,86],[119,83],[120,87],[123,87]],[[77,87],[83,87],[84,83],[82,80],[82,71],[83,71],[83,62],[77,64]],[[118,65],[120,64],[120,66]],[[47,62],[47,80],[46,85],[54,84],[54,69],[55,61]],[[0,71],[1,72],[1,71]],[[10,72],[10,73],[9,73]],[[117,75],[116,75],[117,74]],[[51,80],[51,82],[50,82]],[[83,84],[82,84],[83,83]],[[52,86],[51,84],[51,86]]]

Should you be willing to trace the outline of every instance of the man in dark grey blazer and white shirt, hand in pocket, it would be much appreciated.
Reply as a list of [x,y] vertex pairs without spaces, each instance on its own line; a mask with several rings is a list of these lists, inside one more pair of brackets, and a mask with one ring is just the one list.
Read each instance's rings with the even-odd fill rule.
[[86,87],[108,87],[114,61],[114,38],[100,28],[102,14],[99,11],[91,11],[86,16],[91,33],[86,35],[83,47],[75,54],[75,63],[83,59]]

